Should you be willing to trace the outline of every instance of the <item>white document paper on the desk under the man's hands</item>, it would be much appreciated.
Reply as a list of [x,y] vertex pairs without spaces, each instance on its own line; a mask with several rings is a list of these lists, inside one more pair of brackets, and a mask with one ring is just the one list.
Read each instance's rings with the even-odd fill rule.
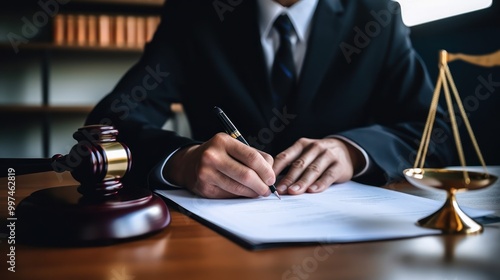
[[[206,199],[157,190],[205,224],[250,248],[279,243],[347,243],[439,234],[416,222],[444,201],[347,182],[317,194]],[[492,211],[462,208],[471,217]],[[222,231],[221,231],[222,230]]]

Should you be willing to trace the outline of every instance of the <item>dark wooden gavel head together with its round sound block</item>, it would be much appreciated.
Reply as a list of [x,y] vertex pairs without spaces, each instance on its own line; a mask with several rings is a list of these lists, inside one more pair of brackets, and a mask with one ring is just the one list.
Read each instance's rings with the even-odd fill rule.
[[43,189],[22,200],[16,211],[21,241],[108,244],[160,231],[170,223],[161,198],[146,187],[124,187],[121,179],[132,158],[117,134],[112,126],[86,126],[74,133],[78,144],[68,155],[27,164],[30,173],[37,168],[70,171],[80,186]]

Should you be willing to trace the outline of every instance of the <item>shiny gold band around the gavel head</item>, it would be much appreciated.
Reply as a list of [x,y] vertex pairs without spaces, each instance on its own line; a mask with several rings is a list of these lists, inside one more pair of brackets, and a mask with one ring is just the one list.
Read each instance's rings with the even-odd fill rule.
[[104,179],[122,178],[128,170],[129,159],[121,143],[101,143],[100,146],[106,154],[108,171]]

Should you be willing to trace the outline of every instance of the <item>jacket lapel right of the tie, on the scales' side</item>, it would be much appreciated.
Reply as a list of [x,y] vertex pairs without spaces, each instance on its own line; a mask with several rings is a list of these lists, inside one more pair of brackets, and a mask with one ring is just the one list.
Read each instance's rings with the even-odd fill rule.
[[320,0],[312,22],[307,53],[293,109],[307,108],[328,67],[339,54],[343,6],[340,0]]

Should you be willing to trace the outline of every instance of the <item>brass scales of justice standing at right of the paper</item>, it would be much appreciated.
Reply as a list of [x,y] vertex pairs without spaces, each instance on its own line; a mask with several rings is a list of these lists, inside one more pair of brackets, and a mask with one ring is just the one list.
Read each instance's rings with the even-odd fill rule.
[[[462,59],[472,64],[491,67],[499,65],[498,62],[493,62],[493,59],[495,58],[500,58],[500,51],[484,56],[450,54],[445,50],[441,50],[439,53],[439,76],[432,97],[420,147],[417,152],[415,164],[413,168],[405,169],[403,173],[412,185],[423,189],[444,190],[447,193],[447,197],[444,205],[439,210],[417,221],[419,226],[440,229],[443,233],[455,234],[475,234],[483,231],[483,226],[481,224],[474,221],[460,209],[455,194],[458,192],[486,188],[492,185],[497,180],[497,177],[489,174],[487,171],[486,164],[476,141],[476,137],[474,136],[474,132],[472,131],[472,127],[458,94],[457,87],[451,76],[448,62],[456,59]],[[453,137],[462,170],[424,168],[425,157],[429,147],[433,123],[436,117],[441,88],[443,88],[447,109],[450,113]],[[463,118],[467,132],[471,138],[472,145],[474,146],[475,152],[481,162],[483,172],[471,172],[466,169],[465,157],[453,109],[450,88]]]

